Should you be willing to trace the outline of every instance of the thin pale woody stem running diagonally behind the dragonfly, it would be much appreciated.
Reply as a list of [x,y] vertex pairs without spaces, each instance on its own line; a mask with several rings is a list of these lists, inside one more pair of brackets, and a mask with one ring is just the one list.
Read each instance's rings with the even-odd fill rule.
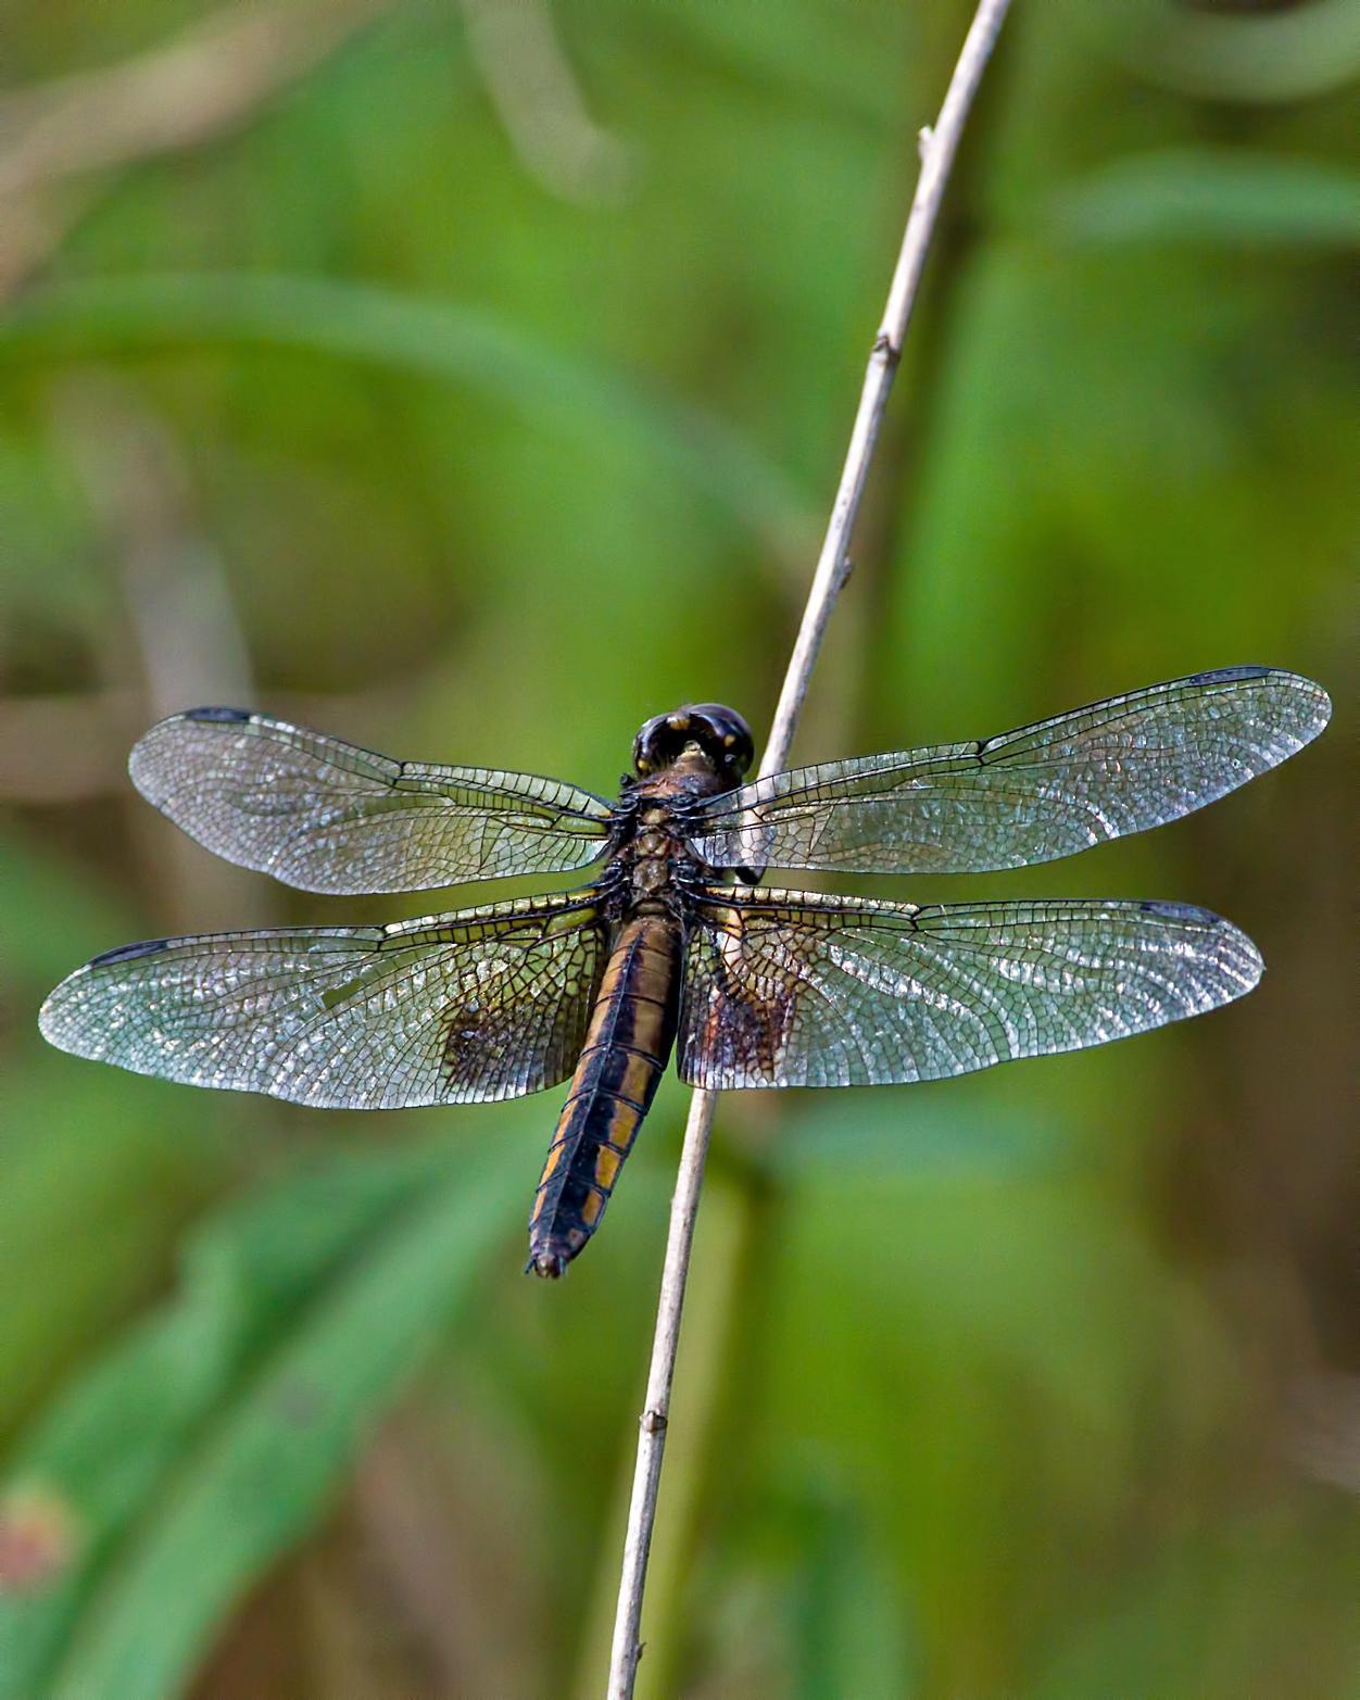
[[[770,738],[760,763],[760,777],[787,767],[794,728],[802,711],[813,663],[818,658],[831,609],[847,576],[847,551],[855,529],[855,518],[864,496],[869,466],[879,440],[887,394],[903,352],[903,338],[911,320],[921,269],[930,250],[935,219],[940,211],[945,182],[954,155],[964,133],[972,97],[983,76],[988,56],[1005,20],[1010,0],[981,0],[954,66],[940,117],[932,129],[921,131],[921,170],[911,212],[906,221],[892,287],[887,292],[879,335],[869,355],[864,374],[860,405],[850,432],[850,447],[840,476],[840,488],[831,507],[826,539],[821,546],[808,605],[802,612],[794,653],[784,675]],[[661,1481],[661,1457],[666,1443],[670,1391],[675,1379],[675,1352],[680,1340],[680,1312],[685,1302],[694,1221],[699,1212],[699,1188],[704,1180],[704,1163],[709,1153],[717,1093],[695,1091],[685,1124],[685,1144],[680,1154],[680,1171],[670,1209],[666,1256],[661,1266],[661,1295],[656,1309],[656,1334],[651,1346],[646,1404],[638,1438],[638,1464],[632,1476],[624,1562],[619,1578],[619,1608],[614,1620],[614,1649],[609,1668],[607,1700],[632,1700],[641,1644],[638,1639],[643,1618],[643,1588],[646,1584],[648,1550],[656,1520],[656,1489]]]

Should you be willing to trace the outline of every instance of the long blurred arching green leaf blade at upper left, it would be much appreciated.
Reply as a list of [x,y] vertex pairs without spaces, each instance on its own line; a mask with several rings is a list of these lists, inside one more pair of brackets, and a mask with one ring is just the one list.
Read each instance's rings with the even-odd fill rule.
[[320,277],[190,272],[116,277],[31,296],[0,320],[0,357],[262,343],[466,384],[529,423],[552,420],[598,450],[600,427],[660,457],[785,552],[814,536],[780,469],[711,413],[573,359],[466,303],[422,301]]

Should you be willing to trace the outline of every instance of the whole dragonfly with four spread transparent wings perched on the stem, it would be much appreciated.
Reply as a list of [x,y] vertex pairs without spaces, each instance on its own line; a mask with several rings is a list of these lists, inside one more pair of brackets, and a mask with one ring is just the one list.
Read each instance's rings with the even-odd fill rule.
[[1151,685],[996,738],[746,780],[729,707],[646,721],[617,799],[394,762],[243,709],[190,709],[133,782],[201,845],[304,891],[571,874],[571,891],[384,926],[153,938],[42,1005],[63,1051],[194,1086],[388,1110],[570,1076],[529,1221],[561,1277],[600,1226],[672,1052],[690,1086],[879,1086],[1124,1039],[1251,991],[1253,942],[1183,903],[915,904],[765,869],[972,874],[1178,819],[1294,755],[1326,692],[1278,668]]

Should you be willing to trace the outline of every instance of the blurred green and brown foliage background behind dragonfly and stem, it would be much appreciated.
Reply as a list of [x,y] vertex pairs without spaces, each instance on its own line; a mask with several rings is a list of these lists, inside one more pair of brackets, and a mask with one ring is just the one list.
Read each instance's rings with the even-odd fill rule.
[[[178,836],[124,774],[173,709],[604,792],[677,700],[768,724],[969,14],[7,7],[3,1700],[602,1692],[680,1086],[552,1287],[558,1093],[308,1114],[34,1015],[128,938],[432,906]],[[796,755],[1238,661],[1338,726],[1080,862],[877,886],[1204,903],[1246,1003],[724,1100],[649,1700],[1357,1692],[1357,65],[1348,0],[1017,0]]]

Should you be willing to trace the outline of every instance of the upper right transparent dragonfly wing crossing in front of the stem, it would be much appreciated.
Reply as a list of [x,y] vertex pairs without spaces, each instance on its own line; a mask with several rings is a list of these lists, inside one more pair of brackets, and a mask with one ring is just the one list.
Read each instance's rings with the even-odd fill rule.
[[1051,862],[1244,785],[1326,726],[1321,685],[1231,666],[981,743],[801,767],[714,797],[711,867],[964,874]]

